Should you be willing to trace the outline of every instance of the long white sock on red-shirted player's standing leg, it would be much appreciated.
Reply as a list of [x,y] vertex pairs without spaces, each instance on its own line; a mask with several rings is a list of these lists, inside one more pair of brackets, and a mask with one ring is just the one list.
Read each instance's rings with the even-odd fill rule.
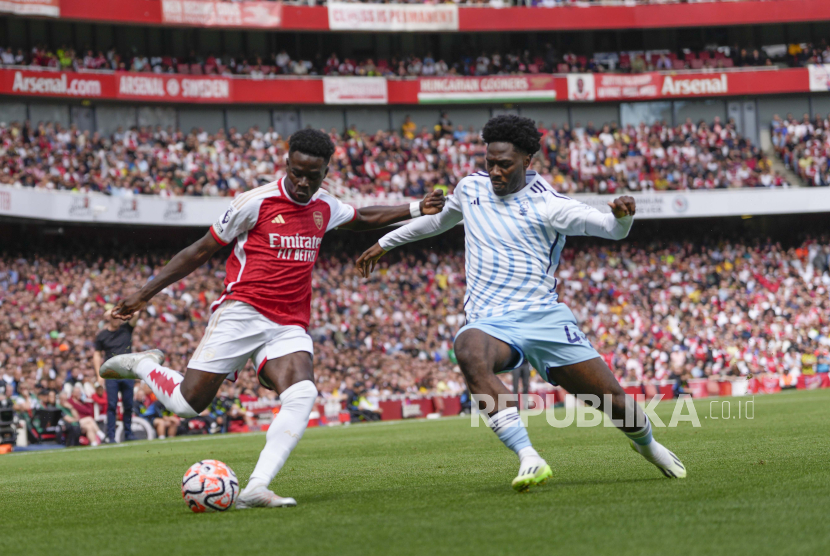
[[310,380],[293,384],[280,394],[280,411],[265,434],[265,448],[251,473],[245,490],[267,487],[279,473],[291,451],[303,437],[308,416],[317,400],[317,388]]

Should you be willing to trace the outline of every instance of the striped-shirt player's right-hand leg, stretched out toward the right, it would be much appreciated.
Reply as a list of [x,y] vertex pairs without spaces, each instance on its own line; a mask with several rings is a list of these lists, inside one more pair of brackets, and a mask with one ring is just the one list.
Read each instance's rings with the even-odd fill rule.
[[[632,447],[639,454],[656,465],[666,477],[682,479],[686,476],[686,467],[673,452],[654,440],[648,417],[634,398],[625,393],[602,358],[550,368],[548,378],[571,394],[592,394],[599,397],[603,412],[613,419],[619,419],[624,425],[633,423],[633,426],[622,426],[620,430],[631,440]],[[611,395],[611,407],[604,406],[606,394]]]

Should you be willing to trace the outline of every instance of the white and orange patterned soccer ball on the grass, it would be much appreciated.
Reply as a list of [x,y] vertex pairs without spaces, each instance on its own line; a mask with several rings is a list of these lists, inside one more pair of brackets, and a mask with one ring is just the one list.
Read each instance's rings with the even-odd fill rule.
[[182,498],[196,513],[224,512],[239,494],[239,481],[233,470],[215,459],[190,466],[182,478]]

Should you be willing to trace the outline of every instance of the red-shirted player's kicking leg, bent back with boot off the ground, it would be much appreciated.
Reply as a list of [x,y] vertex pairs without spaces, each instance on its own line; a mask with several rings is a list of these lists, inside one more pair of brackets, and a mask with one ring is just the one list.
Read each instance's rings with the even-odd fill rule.
[[182,375],[163,362],[164,355],[157,349],[117,355],[101,365],[101,376],[141,379],[164,407],[185,418],[196,417],[210,405],[226,376],[192,368]]

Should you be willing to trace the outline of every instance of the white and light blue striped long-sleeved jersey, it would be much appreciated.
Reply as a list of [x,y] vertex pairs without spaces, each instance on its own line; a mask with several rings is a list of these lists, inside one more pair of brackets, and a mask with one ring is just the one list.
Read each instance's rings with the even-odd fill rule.
[[383,249],[437,235],[464,222],[467,321],[510,311],[539,311],[557,303],[554,277],[568,235],[621,239],[632,217],[615,219],[554,191],[527,172],[517,193],[498,196],[490,177],[461,180],[441,214],[417,218],[380,240]]

